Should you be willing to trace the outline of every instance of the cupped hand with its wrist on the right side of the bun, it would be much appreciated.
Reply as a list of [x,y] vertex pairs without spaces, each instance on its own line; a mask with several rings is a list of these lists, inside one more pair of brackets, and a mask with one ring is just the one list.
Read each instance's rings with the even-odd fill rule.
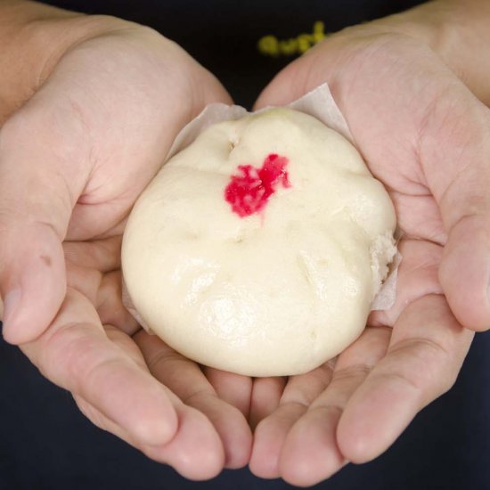
[[482,18],[487,26],[484,3],[438,2],[346,29],[291,63],[257,101],[282,105],[329,83],[395,204],[404,257],[395,305],[373,313],[336,362],[290,378],[258,423],[250,461],[258,476],[309,486],[347,461],[372,460],[453,386],[474,331],[490,326]]

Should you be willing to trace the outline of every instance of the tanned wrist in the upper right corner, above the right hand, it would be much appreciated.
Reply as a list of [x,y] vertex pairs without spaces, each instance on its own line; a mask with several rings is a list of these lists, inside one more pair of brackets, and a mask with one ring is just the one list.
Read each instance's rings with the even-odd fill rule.
[[429,45],[478,99],[490,105],[489,23],[486,0],[435,0],[373,25]]

